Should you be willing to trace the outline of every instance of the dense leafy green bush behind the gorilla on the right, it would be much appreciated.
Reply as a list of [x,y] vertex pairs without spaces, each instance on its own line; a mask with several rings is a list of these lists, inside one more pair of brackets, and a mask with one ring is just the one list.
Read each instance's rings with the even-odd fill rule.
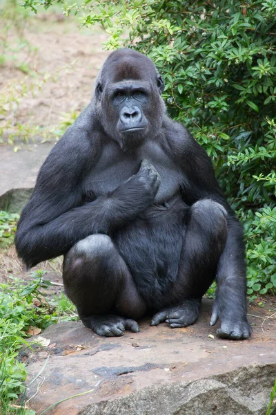
[[276,1],[86,0],[64,10],[100,23],[106,48],[154,60],[170,116],[205,147],[244,222],[248,293],[276,291]]

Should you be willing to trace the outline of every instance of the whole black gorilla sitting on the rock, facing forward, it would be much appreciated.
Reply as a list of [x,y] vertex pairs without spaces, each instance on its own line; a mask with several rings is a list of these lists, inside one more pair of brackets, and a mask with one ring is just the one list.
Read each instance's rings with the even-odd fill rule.
[[[99,335],[193,324],[213,279],[210,324],[249,338],[242,226],[204,149],[168,118],[148,57],[106,60],[92,102],[41,167],[19,221],[28,267],[65,255],[63,281],[83,324]],[[133,320],[132,320],[133,319]]]

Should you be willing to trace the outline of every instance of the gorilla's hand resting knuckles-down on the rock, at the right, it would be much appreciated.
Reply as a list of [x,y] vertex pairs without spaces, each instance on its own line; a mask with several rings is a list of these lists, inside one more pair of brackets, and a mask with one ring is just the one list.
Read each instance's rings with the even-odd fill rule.
[[250,338],[252,328],[248,324],[246,311],[234,307],[233,304],[227,304],[219,296],[217,291],[215,303],[213,305],[213,313],[210,320],[210,326],[214,326],[217,320],[221,321],[220,329],[217,329],[217,335],[220,338],[230,340],[241,340]]

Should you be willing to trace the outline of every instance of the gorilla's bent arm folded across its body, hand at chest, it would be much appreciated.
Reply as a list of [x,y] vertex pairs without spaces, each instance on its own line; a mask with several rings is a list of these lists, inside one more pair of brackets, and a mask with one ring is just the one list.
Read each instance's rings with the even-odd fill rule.
[[83,178],[93,160],[89,137],[71,127],[43,163],[15,239],[19,257],[28,267],[65,254],[90,234],[109,234],[154,200],[159,176],[143,162],[139,172],[114,192],[83,205]]

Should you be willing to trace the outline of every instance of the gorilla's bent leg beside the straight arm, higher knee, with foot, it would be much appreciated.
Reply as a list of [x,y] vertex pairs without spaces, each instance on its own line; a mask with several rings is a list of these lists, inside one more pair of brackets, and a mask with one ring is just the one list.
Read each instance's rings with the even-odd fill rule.
[[[201,297],[215,278],[217,263],[227,238],[227,212],[219,203],[203,199],[188,211],[179,261],[179,275],[172,289],[172,303],[152,317],[152,326],[168,322],[172,328],[195,323]],[[181,298],[180,300],[179,297]]]

